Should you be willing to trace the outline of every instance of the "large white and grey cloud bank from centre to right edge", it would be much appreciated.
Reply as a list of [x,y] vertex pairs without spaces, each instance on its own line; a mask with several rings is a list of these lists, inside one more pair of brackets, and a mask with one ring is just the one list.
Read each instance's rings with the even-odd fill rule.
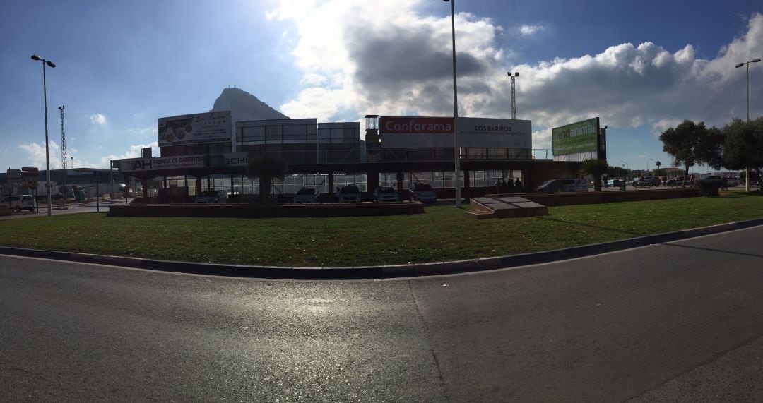
[[[281,110],[295,117],[355,120],[366,113],[452,113],[450,16],[418,12],[421,0],[326,0],[295,11],[282,1],[269,18],[291,21],[291,49],[304,70],[303,89]],[[541,25],[524,24],[520,34]],[[550,147],[550,130],[589,117],[610,129],[646,125],[655,135],[684,119],[721,125],[745,112],[745,74],[733,66],[763,54],[763,15],[754,14],[740,37],[714,59],[697,59],[694,46],[613,44],[599,53],[510,66],[490,18],[456,15],[459,114],[507,117],[506,71],[517,79],[517,117],[533,120],[533,146]],[[358,33],[362,32],[362,35]],[[320,80],[318,77],[326,78]],[[751,81],[763,92],[763,80]],[[753,107],[751,105],[751,107]],[[761,107],[751,114],[761,114]]]

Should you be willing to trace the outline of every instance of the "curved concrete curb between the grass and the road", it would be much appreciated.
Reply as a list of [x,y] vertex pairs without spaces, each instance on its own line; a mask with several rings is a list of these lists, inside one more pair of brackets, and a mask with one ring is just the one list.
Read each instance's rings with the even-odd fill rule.
[[101,254],[83,254],[76,252],[41,251],[37,249],[8,248],[0,246],[0,254],[24,257],[40,257],[58,261],[74,261],[111,266],[134,267],[147,270],[159,270],[172,273],[209,274],[227,277],[254,277],[284,280],[362,280],[395,277],[420,277],[438,274],[468,273],[495,270],[506,267],[526,266],[528,264],[549,263],[575,257],[591,256],[612,251],[622,251],[640,246],[661,244],[680,239],[712,235],[763,225],[763,219],[750,219],[741,222],[712,225],[697,229],[687,229],[664,234],[645,235],[638,238],[600,244],[576,246],[553,251],[512,254],[508,256],[468,259],[464,261],[433,262],[425,264],[400,264],[393,266],[358,266],[358,267],[278,267],[278,266],[243,266],[231,264],[208,264],[184,261],[159,261],[139,257],[106,256]]

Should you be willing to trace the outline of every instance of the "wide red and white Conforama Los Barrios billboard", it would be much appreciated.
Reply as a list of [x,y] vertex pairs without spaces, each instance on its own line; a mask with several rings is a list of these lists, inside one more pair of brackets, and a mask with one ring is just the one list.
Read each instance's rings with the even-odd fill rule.
[[[388,149],[453,146],[452,117],[380,117],[381,146]],[[459,117],[459,146],[531,149],[530,120]]]

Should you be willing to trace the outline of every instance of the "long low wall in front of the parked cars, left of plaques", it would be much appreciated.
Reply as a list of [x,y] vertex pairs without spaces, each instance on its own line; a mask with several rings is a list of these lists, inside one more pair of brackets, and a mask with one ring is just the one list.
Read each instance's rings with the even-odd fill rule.
[[424,213],[423,203],[130,204],[109,206],[109,217],[345,217]]

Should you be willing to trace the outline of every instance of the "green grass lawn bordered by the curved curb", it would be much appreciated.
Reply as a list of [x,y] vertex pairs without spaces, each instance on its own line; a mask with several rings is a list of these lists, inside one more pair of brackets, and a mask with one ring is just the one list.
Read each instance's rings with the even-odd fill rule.
[[217,219],[67,214],[0,222],[0,245],[179,261],[365,266],[545,251],[763,217],[763,197],[549,208],[549,216],[472,220],[452,206],[385,217]]

